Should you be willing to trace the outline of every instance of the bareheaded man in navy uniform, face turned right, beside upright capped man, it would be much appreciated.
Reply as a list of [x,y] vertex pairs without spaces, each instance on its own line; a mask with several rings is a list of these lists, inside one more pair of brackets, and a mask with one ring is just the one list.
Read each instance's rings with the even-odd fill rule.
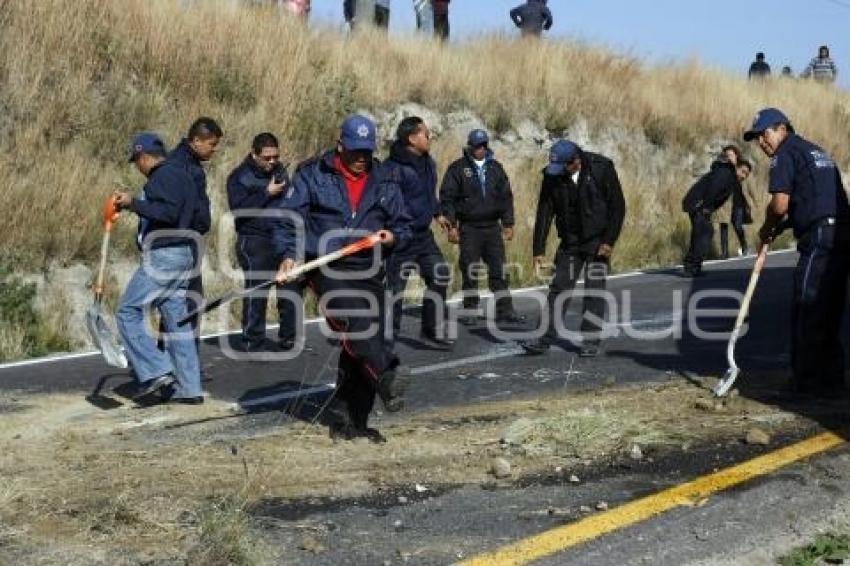
[[431,231],[435,218],[440,219],[444,227],[448,222],[439,215],[437,164],[431,158],[430,150],[431,132],[428,126],[422,118],[411,116],[399,124],[390,157],[384,162],[387,174],[401,185],[407,214],[412,218],[410,228],[413,232],[410,241],[396,246],[387,260],[387,279],[394,299],[393,335],[387,341],[390,350],[401,329],[401,295],[415,269],[419,269],[427,286],[422,299],[422,338],[439,348],[453,345],[453,341],[446,338],[442,326],[450,273],[446,272],[446,260]]

